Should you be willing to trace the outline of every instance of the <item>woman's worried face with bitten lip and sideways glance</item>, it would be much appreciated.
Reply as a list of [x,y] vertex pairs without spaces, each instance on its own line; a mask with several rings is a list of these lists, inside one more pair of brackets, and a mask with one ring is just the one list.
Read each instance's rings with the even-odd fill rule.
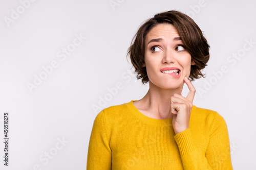
[[163,89],[183,86],[190,66],[195,65],[178,31],[169,23],[155,26],[146,35],[144,61],[150,82]]

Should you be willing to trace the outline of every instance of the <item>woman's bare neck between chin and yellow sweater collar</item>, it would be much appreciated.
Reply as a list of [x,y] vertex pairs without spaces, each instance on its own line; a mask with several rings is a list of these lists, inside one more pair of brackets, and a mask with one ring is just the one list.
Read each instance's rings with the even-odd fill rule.
[[181,95],[183,85],[176,89],[162,89],[155,86],[151,81],[149,83],[150,89],[141,99],[142,109],[150,112],[157,119],[172,118],[173,114],[170,113],[170,97],[174,93]]

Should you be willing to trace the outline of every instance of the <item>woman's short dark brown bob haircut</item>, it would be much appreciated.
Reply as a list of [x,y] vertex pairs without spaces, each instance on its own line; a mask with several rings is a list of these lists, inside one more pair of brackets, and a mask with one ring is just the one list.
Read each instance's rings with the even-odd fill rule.
[[196,63],[196,65],[191,65],[188,79],[193,81],[201,77],[204,78],[205,74],[202,74],[201,69],[207,66],[206,63],[210,57],[210,46],[193,19],[186,14],[172,10],[158,13],[153,18],[147,19],[134,35],[131,46],[127,50],[126,57],[128,55],[130,56],[137,74],[137,79],[142,79],[143,84],[149,81],[146,67],[142,67],[145,55],[144,43],[147,33],[160,23],[170,23],[176,28],[187,52],[191,55],[191,60]]

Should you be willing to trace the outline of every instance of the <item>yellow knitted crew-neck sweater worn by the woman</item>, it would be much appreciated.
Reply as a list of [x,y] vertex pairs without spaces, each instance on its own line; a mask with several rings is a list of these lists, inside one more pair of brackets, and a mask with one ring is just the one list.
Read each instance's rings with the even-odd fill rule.
[[194,105],[189,129],[176,135],[172,118],[147,117],[135,101],[96,116],[87,170],[232,169],[227,126],[219,113]]

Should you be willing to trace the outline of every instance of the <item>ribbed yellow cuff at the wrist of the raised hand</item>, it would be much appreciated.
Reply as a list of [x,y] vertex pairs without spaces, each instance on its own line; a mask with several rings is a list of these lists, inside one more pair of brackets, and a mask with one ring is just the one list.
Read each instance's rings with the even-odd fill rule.
[[192,139],[191,130],[188,128],[174,136],[176,143],[179,147],[180,155],[186,155],[196,149],[194,141]]

